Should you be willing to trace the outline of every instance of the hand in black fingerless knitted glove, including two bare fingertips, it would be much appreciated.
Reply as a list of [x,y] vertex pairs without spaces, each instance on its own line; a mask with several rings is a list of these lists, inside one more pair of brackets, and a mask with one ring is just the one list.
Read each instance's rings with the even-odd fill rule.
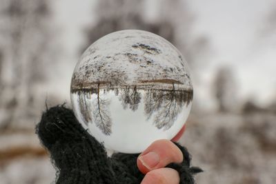
[[72,110],[57,106],[43,113],[37,125],[41,143],[57,167],[57,183],[194,183],[185,147],[159,140],[139,154],[113,154],[83,129]]

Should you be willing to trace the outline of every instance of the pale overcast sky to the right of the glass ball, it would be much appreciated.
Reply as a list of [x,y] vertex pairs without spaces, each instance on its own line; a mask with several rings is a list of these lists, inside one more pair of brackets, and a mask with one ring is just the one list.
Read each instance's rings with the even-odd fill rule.
[[[264,26],[263,20],[275,1],[189,2],[197,15],[197,32],[207,34],[215,48],[208,70],[227,63],[237,71],[242,96],[253,95],[265,102],[276,95],[276,77],[273,77],[276,72],[276,40],[274,45],[257,40]],[[208,74],[206,77],[212,79]]]

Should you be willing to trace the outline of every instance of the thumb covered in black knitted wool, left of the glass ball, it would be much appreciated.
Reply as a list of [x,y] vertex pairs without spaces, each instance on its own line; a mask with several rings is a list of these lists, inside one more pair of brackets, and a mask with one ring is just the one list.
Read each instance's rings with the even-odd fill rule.
[[57,183],[116,183],[103,145],[72,110],[59,105],[43,112],[37,134],[58,169]]

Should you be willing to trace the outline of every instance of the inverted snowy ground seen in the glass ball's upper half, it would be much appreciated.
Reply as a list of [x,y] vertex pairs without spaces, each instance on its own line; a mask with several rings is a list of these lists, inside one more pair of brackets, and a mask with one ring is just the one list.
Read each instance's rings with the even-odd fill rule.
[[116,78],[122,85],[170,79],[192,89],[188,65],[171,43],[141,30],[122,30],[102,37],[83,53],[72,88]]

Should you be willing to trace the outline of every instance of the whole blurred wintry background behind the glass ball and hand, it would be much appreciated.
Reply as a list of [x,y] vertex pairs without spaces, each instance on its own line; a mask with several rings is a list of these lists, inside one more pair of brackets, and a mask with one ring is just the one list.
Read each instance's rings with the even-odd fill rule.
[[197,183],[276,181],[274,0],[0,0],[0,183],[51,183],[34,127],[70,107],[70,79],[93,41],[122,29],[168,39],[193,72],[181,143]]

